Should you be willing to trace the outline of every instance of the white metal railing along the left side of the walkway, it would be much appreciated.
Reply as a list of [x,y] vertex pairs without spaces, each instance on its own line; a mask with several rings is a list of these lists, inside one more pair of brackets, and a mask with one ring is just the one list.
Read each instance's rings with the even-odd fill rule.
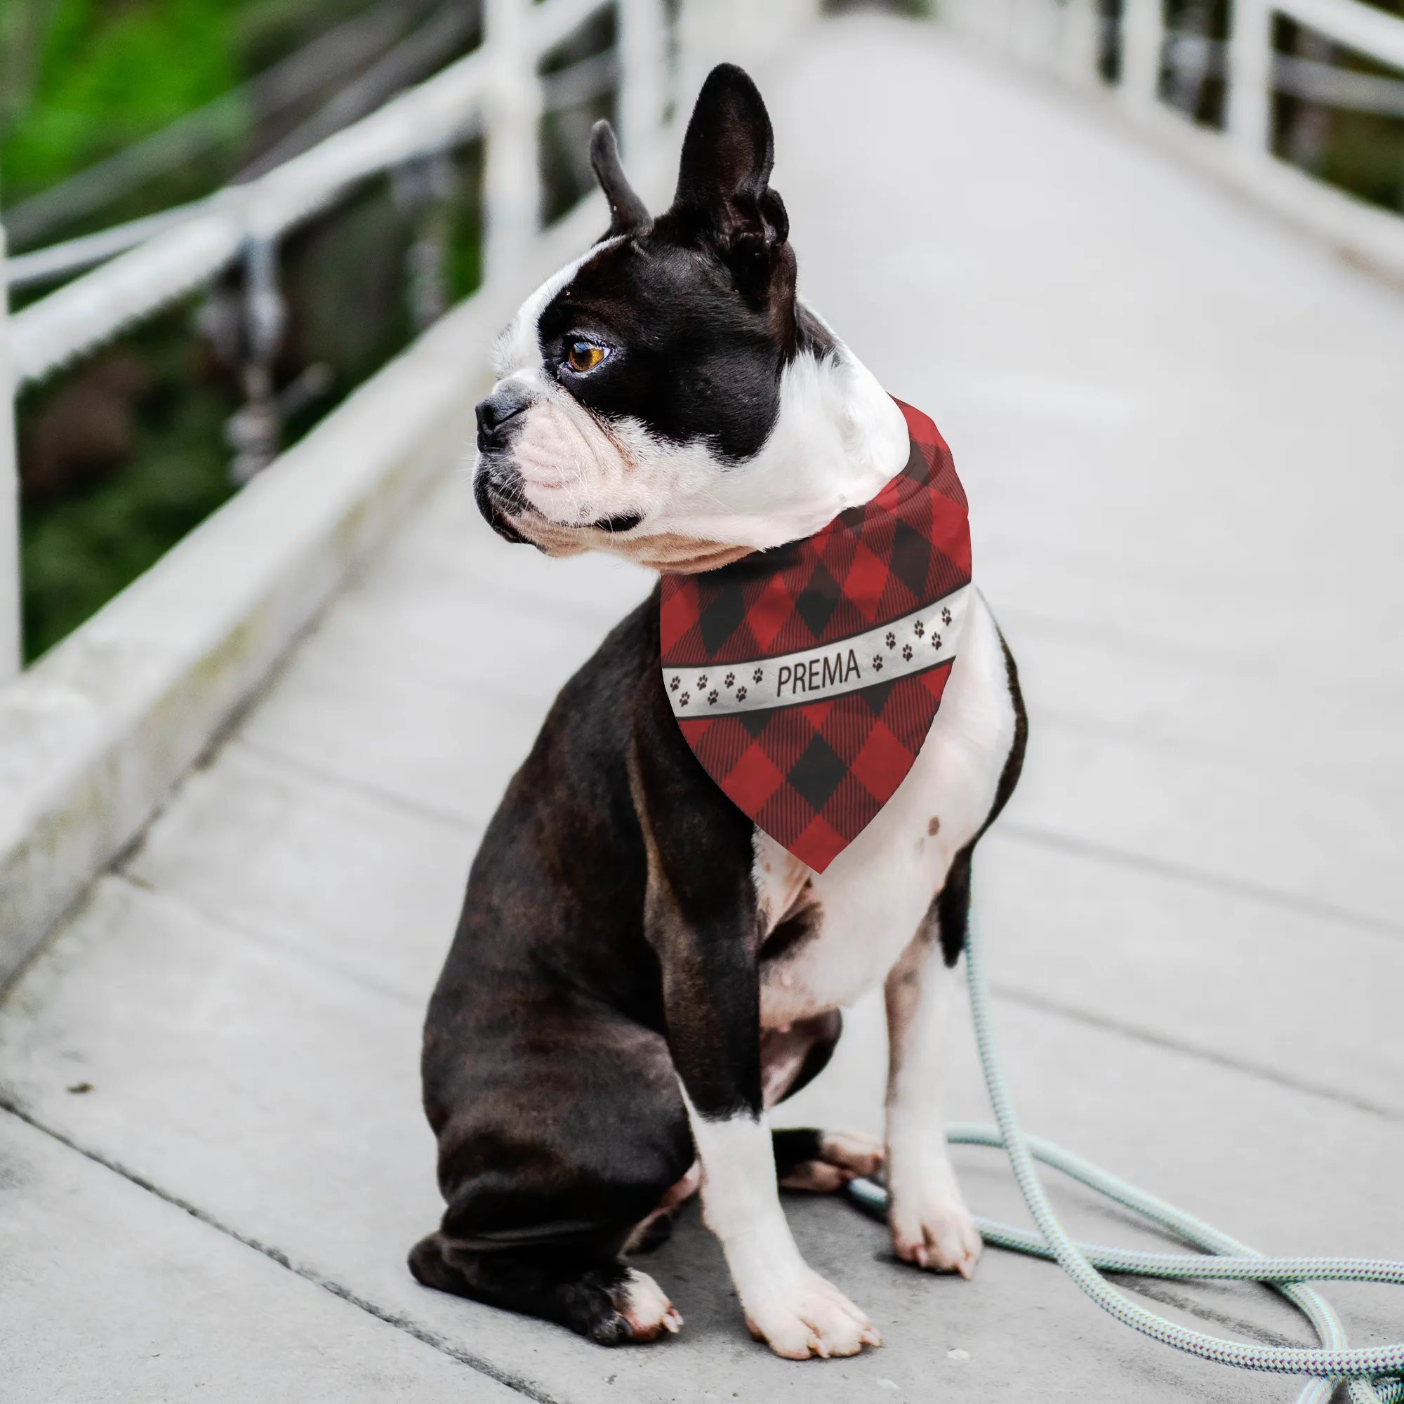
[[[541,80],[542,56],[611,6],[616,52],[591,60],[588,73],[570,70]],[[29,271],[108,261],[14,316],[0,316],[0,682],[20,663],[13,425],[18,389],[206,285],[237,260],[247,271],[251,338],[275,343],[282,316],[277,240],[359,181],[432,159],[475,135],[486,138],[487,149],[483,291],[503,286],[528,261],[539,233],[536,139],[546,108],[574,101],[581,84],[598,90],[600,83],[616,81],[621,145],[626,156],[637,156],[657,139],[665,110],[678,98],[670,91],[670,74],[680,77],[670,53],[682,55],[691,83],[713,58],[774,51],[814,13],[817,0],[765,0],[764,6],[750,0],[484,0],[483,42],[476,51],[267,174],[145,225],[91,236],[95,243],[80,249],[25,256]],[[0,239],[0,289],[7,282]]]

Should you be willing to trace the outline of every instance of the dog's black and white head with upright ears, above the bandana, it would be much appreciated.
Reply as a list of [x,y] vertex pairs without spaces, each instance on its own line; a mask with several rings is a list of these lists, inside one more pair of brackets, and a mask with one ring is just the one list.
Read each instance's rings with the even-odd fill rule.
[[705,570],[872,497],[906,461],[901,414],[796,300],[751,80],[709,76],[657,219],[607,124],[591,157],[611,229],[498,340],[477,407],[484,517],[549,555]]

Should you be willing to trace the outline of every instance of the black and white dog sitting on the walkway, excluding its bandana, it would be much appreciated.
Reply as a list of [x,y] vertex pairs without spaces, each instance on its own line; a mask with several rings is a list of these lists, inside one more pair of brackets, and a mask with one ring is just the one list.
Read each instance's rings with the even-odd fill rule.
[[[771,124],[713,70],[673,206],[650,218],[601,124],[608,234],[521,307],[477,406],[477,503],[549,555],[702,571],[809,536],[903,469],[896,403],[795,293]],[[972,591],[943,701],[906,781],[823,872],[702,769],[660,675],[658,597],[566,684],[473,863],[424,1031],[442,1227],[420,1282],[602,1344],[681,1318],[622,1255],[699,1185],[751,1332],[779,1355],[880,1338],[812,1272],[778,1182],[886,1171],[897,1254],[980,1254],[946,1153],[946,1007],[970,854],[1019,775],[1014,661]],[[840,1008],[886,981],[886,1146],[776,1132]]]

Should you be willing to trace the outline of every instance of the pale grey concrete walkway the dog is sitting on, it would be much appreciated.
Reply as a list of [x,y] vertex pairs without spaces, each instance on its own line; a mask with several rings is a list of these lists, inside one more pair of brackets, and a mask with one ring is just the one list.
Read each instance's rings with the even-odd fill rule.
[[[1261,1250],[1404,1257],[1404,302],[931,28],[834,22],[762,79],[803,286],[951,439],[1024,670],[981,906],[1026,1125]],[[410,1279],[418,1026],[473,847],[646,588],[503,545],[445,483],[31,963],[0,1009],[0,1393],[1292,1398],[1046,1265],[901,1268],[838,1200],[790,1207],[886,1334],[847,1362],[754,1345],[695,1214],[651,1259],[687,1318],[657,1346]],[[868,1001],[790,1119],[876,1129],[882,1057]],[[987,1119],[966,1031],[952,1057]],[[998,1157],[960,1160],[1018,1214]],[[1141,1290],[1304,1339],[1255,1290]],[[1331,1296],[1404,1335],[1397,1293]]]

